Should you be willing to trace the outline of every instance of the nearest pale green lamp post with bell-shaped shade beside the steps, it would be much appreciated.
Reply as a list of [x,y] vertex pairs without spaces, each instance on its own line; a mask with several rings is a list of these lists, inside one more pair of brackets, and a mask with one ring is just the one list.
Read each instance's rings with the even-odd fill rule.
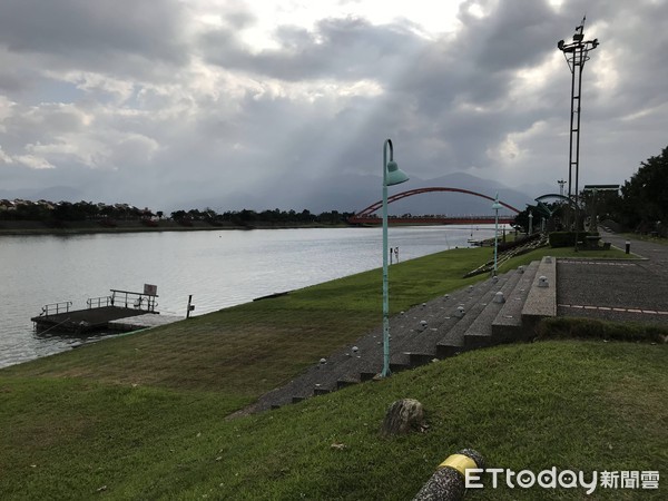
[[[390,161],[387,161],[390,147]],[[387,186],[409,180],[409,176],[394,161],[392,140],[383,145],[383,372],[382,377],[390,375],[390,294],[387,279]]]

